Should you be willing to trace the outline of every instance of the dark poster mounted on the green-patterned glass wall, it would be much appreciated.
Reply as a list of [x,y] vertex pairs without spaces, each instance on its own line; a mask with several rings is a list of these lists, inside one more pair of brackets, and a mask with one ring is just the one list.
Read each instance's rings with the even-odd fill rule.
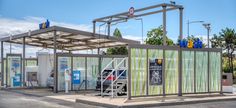
[[149,60],[149,84],[162,85],[162,59]]

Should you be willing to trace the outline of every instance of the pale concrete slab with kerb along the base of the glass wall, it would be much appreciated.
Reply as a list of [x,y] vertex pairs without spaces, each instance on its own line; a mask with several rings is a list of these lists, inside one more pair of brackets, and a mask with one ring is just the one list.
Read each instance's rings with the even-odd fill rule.
[[98,97],[89,95],[80,95],[76,102],[102,106],[102,107],[152,107],[152,106],[169,106],[193,103],[205,103],[214,101],[235,100],[236,95],[233,94],[194,94],[179,96],[153,96],[153,97],[140,97],[126,100],[126,98],[110,98]]

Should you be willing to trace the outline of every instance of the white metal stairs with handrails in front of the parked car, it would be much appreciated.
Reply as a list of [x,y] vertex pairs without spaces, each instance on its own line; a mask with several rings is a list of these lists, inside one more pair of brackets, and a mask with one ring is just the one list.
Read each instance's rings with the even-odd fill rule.
[[[123,65],[122,65],[123,64]],[[109,69],[110,72],[107,76],[104,73],[107,72],[107,67],[114,65],[113,69]],[[101,96],[104,95],[119,96],[127,92],[127,58],[114,58],[107,66],[101,71]],[[108,85],[104,88],[104,85]]]

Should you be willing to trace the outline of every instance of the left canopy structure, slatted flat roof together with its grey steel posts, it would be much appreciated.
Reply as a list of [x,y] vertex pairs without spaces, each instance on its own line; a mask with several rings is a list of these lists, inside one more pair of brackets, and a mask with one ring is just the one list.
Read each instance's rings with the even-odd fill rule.
[[[79,39],[78,39],[79,38]],[[66,42],[65,42],[66,40]],[[72,41],[68,41],[72,40]],[[100,42],[100,40],[106,40],[105,42]],[[110,37],[108,38],[107,35],[101,35],[101,34],[94,34],[91,32],[81,31],[81,30],[75,30],[65,27],[58,27],[58,26],[52,26],[46,29],[39,29],[34,31],[29,31],[22,34],[17,34],[11,37],[4,37],[0,38],[1,41],[1,66],[4,67],[3,57],[4,57],[4,43],[15,43],[15,44],[21,44],[23,46],[23,68],[22,73],[25,75],[25,52],[26,52],[26,45],[29,46],[36,46],[36,47],[44,47],[44,48],[51,48],[53,49],[53,58],[54,58],[54,66],[53,69],[56,70],[56,54],[57,50],[67,50],[67,51],[75,51],[75,50],[86,50],[86,49],[96,49],[96,48],[107,48],[107,47],[116,47],[116,46],[127,46],[128,44],[139,44],[138,41],[129,40],[129,39],[123,39],[123,38],[115,38]],[[49,41],[49,42],[44,42]],[[77,43],[73,43],[77,42]],[[81,42],[83,44],[81,44]],[[33,44],[37,43],[37,44]],[[78,47],[79,49],[66,49],[70,48],[68,46],[66,47],[60,47],[62,44],[64,45],[72,45],[72,47]],[[83,47],[87,46],[87,47]],[[1,85],[4,85],[4,68],[1,68],[2,71],[2,82]],[[54,75],[54,79],[57,79],[56,73]],[[25,81],[25,77],[22,78],[23,83]],[[54,84],[57,83],[57,80],[54,80]],[[57,91],[57,86],[54,85],[54,92]]]

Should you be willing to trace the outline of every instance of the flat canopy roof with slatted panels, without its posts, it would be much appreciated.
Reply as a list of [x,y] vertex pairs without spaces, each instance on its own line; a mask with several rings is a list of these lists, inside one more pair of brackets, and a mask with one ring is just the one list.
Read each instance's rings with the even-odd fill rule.
[[23,44],[25,38],[25,45],[54,48],[54,34],[56,36],[56,48],[68,51],[139,44],[139,41],[58,26],[4,37],[0,41]]

